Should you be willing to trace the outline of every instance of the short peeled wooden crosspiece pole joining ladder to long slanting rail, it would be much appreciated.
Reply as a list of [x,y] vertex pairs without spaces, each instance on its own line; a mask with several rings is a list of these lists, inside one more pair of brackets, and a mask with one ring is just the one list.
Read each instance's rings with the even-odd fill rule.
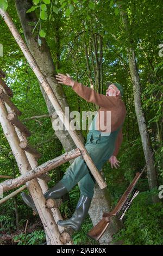
[[27,173],[22,174],[21,176],[5,180],[0,184],[0,190],[3,190],[3,192],[12,190],[15,187],[19,187],[26,183],[27,181],[39,177],[41,174],[49,172],[49,170],[52,170],[58,166],[60,166],[62,163],[65,163],[67,161],[70,161],[71,159],[74,159],[76,157],[80,156],[79,149],[73,149],[68,153],[65,153],[61,156],[56,157],[55,159],[49,160],[39,167],[35,167],[32,170],[29,170]]

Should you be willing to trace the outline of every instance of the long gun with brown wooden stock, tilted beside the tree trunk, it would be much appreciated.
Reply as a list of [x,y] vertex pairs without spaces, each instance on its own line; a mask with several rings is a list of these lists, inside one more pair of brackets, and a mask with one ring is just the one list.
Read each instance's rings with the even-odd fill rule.
[[[99,221],[95,227],[93,227],[87,235],[91,237],[92,239],[95,239],[98,241],[101,236],[104,234],[105,230],[108,228],[108,225],[111,223],[111,217],[114,217],[122,211],[121,217],[119,217],[119,220],[122,221],[122,218],[126,214],[126,211],[129,209],[131,202],[134,200],[134,198],[139,194],[139,191],[134,188],[137,181],[140,179],[143,171],[146,169],[149,161],[151,160],[152,156],[154,155],[154,152],[149,157],[145,167],[143,167],[142,172],[136,173],[135,178],[127,188],[127,190],[123,193],[122,197],[118,201],[117,205],[111,212],[104,212],[103,218],[101,221]],[[130,196],[131,194],[131,196]],[[129,199],[130,196],[130,199]]]

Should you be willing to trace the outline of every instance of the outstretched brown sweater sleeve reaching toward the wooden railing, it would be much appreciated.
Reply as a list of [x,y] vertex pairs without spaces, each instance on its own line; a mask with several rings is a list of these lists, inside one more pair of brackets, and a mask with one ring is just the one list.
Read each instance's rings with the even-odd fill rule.
[[100,107],[109,108],[117,105],[116,96],[105,96],[103,94],[99,94],[95,92],[95,90],[89,87],[83,86],[82,83],[78,83],[77,81],[74,82],[72,89],[84,100],[95,103]]

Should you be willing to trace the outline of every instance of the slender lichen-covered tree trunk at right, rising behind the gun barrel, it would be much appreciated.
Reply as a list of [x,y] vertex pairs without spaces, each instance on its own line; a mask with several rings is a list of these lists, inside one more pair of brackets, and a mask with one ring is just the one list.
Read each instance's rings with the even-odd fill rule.
[[[120,8],[120,14],[122,17],[123,25],[128,34],[128,44],[129,44],[128,59],[129,59],[129,68],[130,68],[131,79],[132,79],[132,83],[133,83],[135,112],[136,112],[137,122],[139,125],[142,147],[143,147],[145,159],[147,162],[147,160],[151,156],[153,150],[152,150],[152,145],[151,145],[151,141],[150,141],[150,137],[149,137],[149,132],[147,129],[145,114],[143,113],[143,109],[142,109],[141,84],[140,84],[139,72],[137,70],[136,59],[135,59],[135,51],[134,51],[134,45],[133,45],[134,41],[130,36],[130,29],[129,29],[127,13],[121,9],[121,5],[118,5],[118,6]],[[157,181],[157,177],[156,177],[156,169],[154,167],[154,157],[152,157],[152,160],[149,162],[149,164],[147,166],[147,177],[148,177],[148,184],[149,184],[150,189],[158,186],[158,181]],[[157,202],[157,201],[158,201],[158,197],[155,198],[155,202]]]

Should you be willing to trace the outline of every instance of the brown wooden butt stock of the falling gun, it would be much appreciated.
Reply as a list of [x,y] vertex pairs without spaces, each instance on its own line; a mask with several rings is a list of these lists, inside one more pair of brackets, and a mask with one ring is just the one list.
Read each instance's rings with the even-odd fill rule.
[[105,217],[102,218],[101,221],[99,221],[94,228],[92,228],[87,235],[91,237],[92,239],[95,239],[98,241],[101,236],[104,234],[106,228],[108,228],[108,225],[110,222],[106,222]]

